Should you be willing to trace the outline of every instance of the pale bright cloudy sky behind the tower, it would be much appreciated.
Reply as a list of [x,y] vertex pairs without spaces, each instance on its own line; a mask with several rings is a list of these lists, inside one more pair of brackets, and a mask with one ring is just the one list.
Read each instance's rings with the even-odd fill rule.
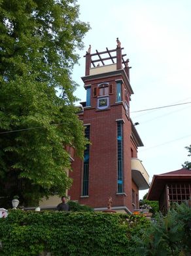
[[[80,77],[85,58],[91,53],[116,48],[120,39],[123,54],[130,59],[130,117],[144,146],[138,158],[150,176],[175,171],[189,160],[185,146],[191,144],[191,1],[190,0],[78,0],[80,20],[91,30],[78,51],[73,79],[79,84],[75,95],[86,101]],[[171,104],[158,110],[136,112]],[[140,198],[147,190],[140,192]]]

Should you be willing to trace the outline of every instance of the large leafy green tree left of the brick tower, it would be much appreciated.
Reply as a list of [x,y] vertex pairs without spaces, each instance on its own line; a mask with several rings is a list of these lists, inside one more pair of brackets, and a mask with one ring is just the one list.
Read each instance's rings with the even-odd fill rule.
[[86,140],[71,79],[89,25],[75,0],[0,0],[0,195],[38,201],[71,186],[65,147]]

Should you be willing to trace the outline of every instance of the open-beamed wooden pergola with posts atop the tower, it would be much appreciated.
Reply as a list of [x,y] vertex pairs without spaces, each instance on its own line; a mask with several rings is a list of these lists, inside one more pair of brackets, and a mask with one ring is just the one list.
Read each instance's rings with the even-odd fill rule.
[[[122,50],[124,49],[123,47],[121,48],[121,43],[117,37],[116,39],[117,45],[116,45],[116,49],[113,50],[109,50],[106,47],[106,51],[102,51],[102,52],[98,52],[96,50],[96,53],[91,53],[91,45],[88,49],[88,51],[86,51],[86,55],[84,55],[84,57],[86,57],[86,75],[90,75],[90,68],[92,68],[92,66],[94,68],[96,68],[96,66],[100,66],[100,64],[102,64],[102,66],[105,66],[105,62],[109,62],[109,60],[111,60],[110,64],[116,64],[116,69],[117,70],[122,70],[122,68],[124,68],[124,70],[126,71],[126,74],[129,77],[129,69],[131,67],[128,66],[129,63],[129,59],[127,58],[126,60],[124,59],[124,56],[126,56],[127,54],[122,54]],[[114,53],[114,54],[111,54]],[[116,59],[116,62],[114,61]],[[98,62],[98,64],[96,65],[96,63]],[[124,67],[122,66],[122,64],[124,64]]]

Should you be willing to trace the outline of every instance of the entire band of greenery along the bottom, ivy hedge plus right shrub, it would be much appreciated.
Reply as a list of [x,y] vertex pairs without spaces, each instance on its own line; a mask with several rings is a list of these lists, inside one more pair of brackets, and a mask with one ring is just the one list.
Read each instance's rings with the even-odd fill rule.
[[0,219],[0,255],[186,256],[191,251],[191,208],[176,205],[154,222],[139,215],[10,211]]

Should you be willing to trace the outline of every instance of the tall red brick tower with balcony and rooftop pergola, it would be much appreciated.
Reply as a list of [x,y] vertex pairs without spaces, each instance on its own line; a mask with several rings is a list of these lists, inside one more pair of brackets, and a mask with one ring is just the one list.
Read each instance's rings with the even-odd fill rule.
[[84,56],[86,102],[78,116],[90,144],[84,160],[72,163],[69,196],[99,211],[112,197],[114,210],[131,212],[139,207],[139,190],[148,188],[148,174],[137,159],[143,143],[130,119],[129,60],[124,60],[118,38],[116,42],[116,49],[93,54],[90,46]]

